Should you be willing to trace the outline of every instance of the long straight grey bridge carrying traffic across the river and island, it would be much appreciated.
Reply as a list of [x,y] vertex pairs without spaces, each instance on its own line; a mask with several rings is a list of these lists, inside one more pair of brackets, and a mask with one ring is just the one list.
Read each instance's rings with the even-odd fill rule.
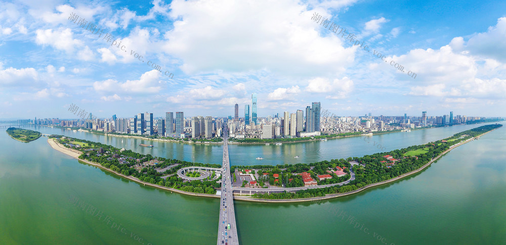
[[232,194],[232,177],[230,175],[230,157],[228,155],[228,132],[225,127],[223,132],[223,165],[222,165],[222,189],[220,197],[220,220],[218,222],[217,244],[239,244],[237,225],[235,222],[234,197]]

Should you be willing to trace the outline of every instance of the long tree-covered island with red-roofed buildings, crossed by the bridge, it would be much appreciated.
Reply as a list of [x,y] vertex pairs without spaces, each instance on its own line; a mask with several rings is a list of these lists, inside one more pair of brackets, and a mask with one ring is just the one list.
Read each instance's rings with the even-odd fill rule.
[[[249,166],[253,169],[256,168],[257,173],[267,174],[264,179],[256,178],[254,175],[252,175],[252,178],[256,178],[257,181],[261,182],[273,182],[272,186],[277,185],[280,187],[251,188],[234,186],[233,191],[236,195],[234,198],[249,201],[275,201],[274,199],[277,199],[277,201],[307,201],[353,194],[365,188],[396,181],[419,172],[454,147],[474,140],[476,137],[501,126],[498,124],[481,126],[435,142],[362,157],[331,159],[310,164]],[[131,150],[118,149],[110,145],[65,136],[52,135],[50,138],[56,138],[55,142],[60,146],[63,145],[62,147],[77,152],[80,159],[92,162],[93,165],[139,183],[148,183],[163,189],[178,190],[178,192],[184,194],[207,194],[205,196],[213,196],[220,187],[219,177],[188,180],[175,174],[177,170],[185,167],[220,168],[220,165],[153,157],[150,154],[143,155]],[[241,167],[231,167],[234,176],[235,168],[240,169]],[[338,176],[334,172],[339,171],[339,169],[344,169],[345,175]],[[304,179],[301,181],[298,174],[301,174],[302,171],[307,173],[306,176],[313,179],[314,186],[307,186]],[[329,172],[330,178],[322,180],[317,178],[318,175],[326,175]],[[276,178],[278,181],[273,179],[274,175],[278,177]],[[344,177],[349,179],[343,181]],[[307,178],[305,177],[305,179]],[[301,186],[302,183],[304,183],[304,186]],[[250,193],[250,195],[237,196],[243,191]]]

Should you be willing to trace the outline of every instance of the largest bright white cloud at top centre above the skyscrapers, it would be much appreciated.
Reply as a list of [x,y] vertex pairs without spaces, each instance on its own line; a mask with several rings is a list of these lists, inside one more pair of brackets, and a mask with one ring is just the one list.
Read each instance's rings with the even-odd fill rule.
[[171,7],[174,29],[165,33],[162,50],[180,58],[187,73],[314,75],[344,72],[354,60],[355,49],[343,48],[337,35],[319,35],[314,11],[301,3],[176,0]]

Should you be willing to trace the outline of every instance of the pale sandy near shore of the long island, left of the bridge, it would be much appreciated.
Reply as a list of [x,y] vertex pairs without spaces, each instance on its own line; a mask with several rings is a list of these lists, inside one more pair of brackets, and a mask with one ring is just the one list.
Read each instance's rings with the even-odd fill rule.
[[73,158],[77,158],[79,161],[81,162],[85,162],[86,164],[89,164],[89,165],[92,165],[92,166],[95,166],[95,167],[98,167],[100,169],[103,169],[107,172],[110,172],[112,174],[115,174],[117,176],[120,176],[120,177],[123,177],[125,179],[129,179],[129,180],[132,180],[134,182],[137,182],[138,184],[143,184],[143,185],[148,185],[148,186],[152,186],[152,187],[155,187],[155,188],[158,188],[158,189],[162,189],[162,190],[170,190],[170,191],[174,191],[174,192],[178,192],[178,193],[181,193],[181,194],[185,194],[185,195],[191,195],[191,196],[203,196],[203,197],[213,197],[213,198],[220,198],[220,195],[216,195],[216,194],[205,194],[205,193],[193,193],[193,192],[187,192],[187,191],[182,191],[182,190],[178,190],[178,189],[174,189],[174,188],[170,188],[170,187],[165,187],[165,186],[160,186],[160,185],[156,185],[156,184],[151,184],[151,183],[148,183],[148,182],[144,182],[144,181],[141,181],[133,176],[126,176],[126,175],[123,175],[123,174],[120,174],[120,173],[116,173],[108,168],[105,168],[104,166],[100,165],[100,164],[97,164],[96,162],[92,162],[92,161],[89,161],[89,160],[86,160],[86,159],[79,159],[78,157],[82,154],[81,151],[78,151],[78,150],[74,150],[74,149],[69,149],[61,144],[58,144],[54,141],[54,139],[52,138],[49,138],[48,139],[48,143],[49,145],[51,145],[51,147],[57,151],[60,151],[64,154],[67,154]]

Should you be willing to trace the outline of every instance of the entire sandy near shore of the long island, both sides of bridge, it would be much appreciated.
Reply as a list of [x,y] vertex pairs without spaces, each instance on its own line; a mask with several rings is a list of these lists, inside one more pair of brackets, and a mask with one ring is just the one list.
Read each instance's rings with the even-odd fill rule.
[[[490,132],[492,132],[494,130],[495,129],[493,129],[493,130],[491,130],[489,132],[486,132],[484,134],[481,134],[481,135],[479,135],[477,137],[481,137],[481,136],[483,136],[485,134],[488,134],[488,133],[490,133]],[[437,157],[435,157],[434,159],[432,159],[427,164],[425,164],[424,166],[420,167],[417,170],[414,170],[414,171],[411,171],[409,173],[403,174],[401,176],[392,178],[390,180],[386,180],[386,181],[382,181],[382,182],[377,182],[377,183],[373,183],[373,184],[370,184],[370,185],[366,185],[366,186],[361,187],[359,189],[356,189],[354,191],[349,191],[349,192],[345,192],[345,193],[327,194],[325,196],[310,197],[310,198],[297,198],[297,199],[259,199],[259,198],[252,198],[252,197],[249,197],[249,196],[242,196],[242,195],[234,194],[234,199],[236,199],[236,200],[242,200],[242,201],[251,201],[251,202],[306,202],[306,201],[324,200],[324,199],[330,199],[330,198],[336,198],[336,197],[340,197],[340,196],[346,196],[346,195],[355,194],[355,193],[358,193],[360,191],[366,190],[367,188],[371,188],[371,187],[375,187],[375,186],[379,186],[379,185],[388,184],[388,183],[391,183],[391,182],[403,179],[405,177],[408,177],[410,175],[416,174],[416,173],[418,173],[420,171],[423,171],[427,167],[429,167],[434,161],[436,161],[437,159],[439,159],[441,156],[443,156],[447,152],[451,151],[452,149],[454,149],[454,148],[456,148],[456,147],[458,147],[460,145],[468,143],[468,142],[472,141],[473,139],[475,139],[477,137],[470,138],[470,139],[468,139],[468,140],[466,140],[464,142],[461,142],[461,143],[458,143],[458,144],[455,144],[455,145],[451,146],[449,149],[445,150],[444,152],[442,152]],[[70,155],[70,156],[72,156],[74,158],[77,158],[80,154],[82,154],[81,151],[66,148],[66,147],[64,147],[64,146],[56,143],[53,139],[48,139],[48,143],[51,145],[51,147],[53,147],[53,149],[58,150],[58,151],[60,151],[62,153],[65,153],[67,155]],[[85,159],[78,159],[78,160],[82,161],[82,162],[86,162],[86,164],[99,167],[99,168],[101,168],[101,169],[103,169],[105,171],[108,171],[110,173],[113,173],[115,175],[123,177],[125,179],[132,180],[132,181],[137,182],[139,184],[149,185],[149,186],[152,186],[152,187],[155,187],[155,188],[158,188],[158,189],[163,189],[163,190],[175,191],[175,192],[178,192],[178,193],[181,193],[181,194],[185,194],[185,195],[220,198],[220,196],[216,195],[216,194],[193,193],[193,192],[182,191],[182,190],[178,190],[178,189],[174,189],[174,188],[170,188],[170,187],[164,187],[164,186],[159,186],[159,185],[156,185],[156,184],[151,184],[151,183],[148,183],[148,182],[141,181],[141,180],[139,180],[139,179],[137,179],[135,177],[132,177],[132,176],[125,176],[123,174],[116,173],[116,172],[114,172],[114,171],[112,171],[110,169],[107,169],[107,168],[101,166],[100,164],[96,164],[94,162],[91,162],[91,161],[88,161],[88,160],[85,160]]]

